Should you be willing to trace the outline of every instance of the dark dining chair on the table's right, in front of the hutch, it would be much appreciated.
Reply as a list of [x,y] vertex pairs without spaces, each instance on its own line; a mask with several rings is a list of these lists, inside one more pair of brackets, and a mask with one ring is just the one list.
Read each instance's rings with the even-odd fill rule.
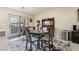
[[49,51],[53,50],[53,48],[54,48],[53,37],[54,36],[53,36],[53,33],[52,33],[51,29],[48,30],[48,34],[41,39],[41,48],[42,48],[42,50],[46,51],[46,48]]

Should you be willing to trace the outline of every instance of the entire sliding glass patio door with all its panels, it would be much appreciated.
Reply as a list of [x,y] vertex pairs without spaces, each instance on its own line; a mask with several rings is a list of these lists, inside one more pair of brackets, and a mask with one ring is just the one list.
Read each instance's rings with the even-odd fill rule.
[[24,27],[27,26],[27,17],[9,15],[10,37],[24,34]]

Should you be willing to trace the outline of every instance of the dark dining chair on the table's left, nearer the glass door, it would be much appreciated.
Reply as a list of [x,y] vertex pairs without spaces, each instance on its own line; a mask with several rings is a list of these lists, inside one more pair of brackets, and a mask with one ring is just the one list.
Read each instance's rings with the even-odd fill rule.
[[26,50],[28,50],[28,43],[30,44],[30,49],[29,51],[33,50],[33,45],[37,49],[37,44],[34,44],[35,42],[38,42],[38,39],[32,39],[32,36],[30,34],[30,30],[28,27],[25,27],[25,33],[26,33]]

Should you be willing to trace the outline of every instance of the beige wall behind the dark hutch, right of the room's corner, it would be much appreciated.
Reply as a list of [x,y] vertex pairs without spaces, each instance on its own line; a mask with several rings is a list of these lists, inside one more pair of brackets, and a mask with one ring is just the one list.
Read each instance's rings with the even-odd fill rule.
[[78,24],[78,8],[52,8],[52,10],[45,11],[35,16],[36,20],[44,18],[55,17],[55,36],[61,38],[62,30],[72,30],[74,24]]

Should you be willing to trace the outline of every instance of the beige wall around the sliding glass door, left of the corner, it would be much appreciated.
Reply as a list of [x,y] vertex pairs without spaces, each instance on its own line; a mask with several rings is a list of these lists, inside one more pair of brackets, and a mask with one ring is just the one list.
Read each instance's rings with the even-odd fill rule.
[[14,9],[10,8],[0,8],[0,31],[4,30],[6,31],[6,36],[8,37],[9,34],[9,19],[8,19],[8,14],[12,15],[18,15],[18,16],[25,16],[25,17],[32,17],[29,14],[26,14],[21,11],[17,11]]

